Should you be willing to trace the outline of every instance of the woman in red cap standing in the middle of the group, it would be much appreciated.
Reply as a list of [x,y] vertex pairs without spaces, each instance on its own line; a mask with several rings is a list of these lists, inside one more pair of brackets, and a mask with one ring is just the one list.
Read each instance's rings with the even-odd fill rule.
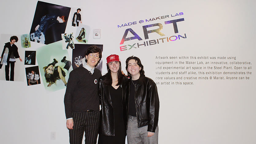
[[99,80],[101,111],[98,144],[125,144],[127,118],[124,93],[128,78],[121,72],[118,55],[107,57],[107,69],[108,73]]

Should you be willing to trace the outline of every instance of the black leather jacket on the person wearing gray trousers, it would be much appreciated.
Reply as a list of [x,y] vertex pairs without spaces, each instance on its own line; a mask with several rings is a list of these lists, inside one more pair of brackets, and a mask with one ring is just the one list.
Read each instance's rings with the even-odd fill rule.
[[[125,95],[128,116],[128,101],[132,78],[127,82],[128,88]],[[138,127],[148,126],[147,131],[155,132],[159,117],[159,97],[155,82],[141,74],[135,86],[135,105]]]

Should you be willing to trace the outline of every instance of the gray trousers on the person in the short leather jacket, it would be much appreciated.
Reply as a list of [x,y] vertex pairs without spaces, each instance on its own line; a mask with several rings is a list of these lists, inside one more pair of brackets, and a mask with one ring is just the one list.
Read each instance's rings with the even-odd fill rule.
[[158,144],[158,126],[151,137],[147,137],[147,126],[138,127],[137,117],[128,116],[127,123],[128,144]]

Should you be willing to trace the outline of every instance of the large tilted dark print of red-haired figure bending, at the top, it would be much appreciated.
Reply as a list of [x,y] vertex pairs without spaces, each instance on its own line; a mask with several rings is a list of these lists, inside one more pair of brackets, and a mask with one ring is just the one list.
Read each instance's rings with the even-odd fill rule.
[[61,34],[65,33],[70,9],[70,7],[38,1],[30,29],[31,41],[51,44],[61,40]]

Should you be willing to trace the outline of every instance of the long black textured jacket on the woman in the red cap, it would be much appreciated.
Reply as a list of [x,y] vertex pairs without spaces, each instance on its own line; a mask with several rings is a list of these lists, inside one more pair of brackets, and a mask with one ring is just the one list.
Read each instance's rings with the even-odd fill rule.
[[[109,86],[105,85],[104,81],[101,78],[99,80],[99,88],[98,88],[98,94],[99,94],[100,104],[101,104],[99,135],[115,136],[114,111],[113,111],[113,105],[110,97]],[[126,104],[124,103],[124,94],[126,91],[125,84],[127,80],[128,78],[124,76],[122,80],[122,84],[120,85],[122,88],[123,120],[124,120],[125,130],[127,125],[126,124],[127,117],[126,117]]]

